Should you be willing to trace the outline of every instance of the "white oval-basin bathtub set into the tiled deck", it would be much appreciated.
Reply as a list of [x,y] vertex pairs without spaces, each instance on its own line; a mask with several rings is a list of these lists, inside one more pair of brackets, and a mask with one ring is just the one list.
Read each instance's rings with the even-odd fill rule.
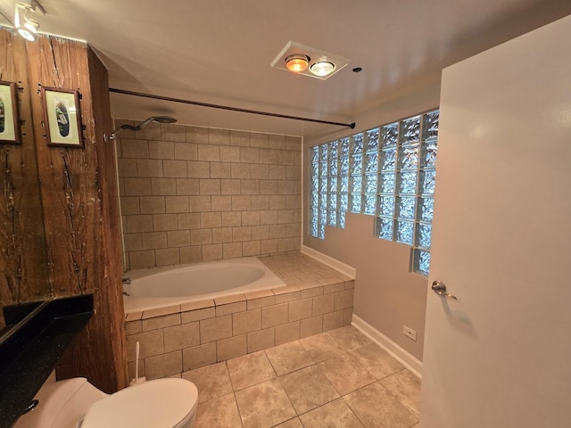
[[126,313],[285,285],[255,257],[131,270],[125,276],[131,279],[123,284]]

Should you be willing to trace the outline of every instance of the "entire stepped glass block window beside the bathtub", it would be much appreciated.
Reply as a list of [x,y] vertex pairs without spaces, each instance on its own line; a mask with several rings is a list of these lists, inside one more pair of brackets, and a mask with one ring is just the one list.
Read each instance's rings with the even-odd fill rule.
[[376,216],[378,238],[412,247],[428,274],[439,111],[402,119],[310,149],[310,235],[344,227],[345,213]]

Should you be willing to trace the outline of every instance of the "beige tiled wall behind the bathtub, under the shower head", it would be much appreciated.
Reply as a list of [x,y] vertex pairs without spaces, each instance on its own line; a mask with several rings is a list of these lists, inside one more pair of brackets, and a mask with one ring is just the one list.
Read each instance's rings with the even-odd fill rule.
[[125,268],[300,250],[300,137],[156,122],[118,137]]

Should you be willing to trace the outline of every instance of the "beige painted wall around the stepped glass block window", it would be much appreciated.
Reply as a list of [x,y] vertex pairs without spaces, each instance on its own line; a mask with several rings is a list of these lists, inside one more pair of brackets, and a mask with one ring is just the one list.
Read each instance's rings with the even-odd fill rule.
[[[440,85],[424,86],[411,95],[387,102],[355,118],[357,127],[303,143],[303,150],[342,136],[375,128],[438,106]],[[306,157],[308,159],[309,157]],[[307,161],[304,177],[308,177]],[[438,178],[436,178],[438,185]],[[304,206],[309,203],[309,183],[304,180]],[[309,217],[304,210],[304,218]],[[426,277],[410,273],[410,246],[387,242],[374,236],[374,216],[347,213],[344,229],[327,226],[321,241],[303,231],[303,245],[343,261],[357,270],[353,313],[392,342],[422,361],[426,314]],[[305,222],[307,225],[307,221]],[[417,341],[402,334],[402,326],[416,330]]]

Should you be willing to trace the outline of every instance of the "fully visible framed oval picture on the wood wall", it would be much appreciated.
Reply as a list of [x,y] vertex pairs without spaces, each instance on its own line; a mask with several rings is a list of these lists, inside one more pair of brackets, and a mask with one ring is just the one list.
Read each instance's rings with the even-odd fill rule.
[[83,147],[79,92],[42,86],[48,145]]

